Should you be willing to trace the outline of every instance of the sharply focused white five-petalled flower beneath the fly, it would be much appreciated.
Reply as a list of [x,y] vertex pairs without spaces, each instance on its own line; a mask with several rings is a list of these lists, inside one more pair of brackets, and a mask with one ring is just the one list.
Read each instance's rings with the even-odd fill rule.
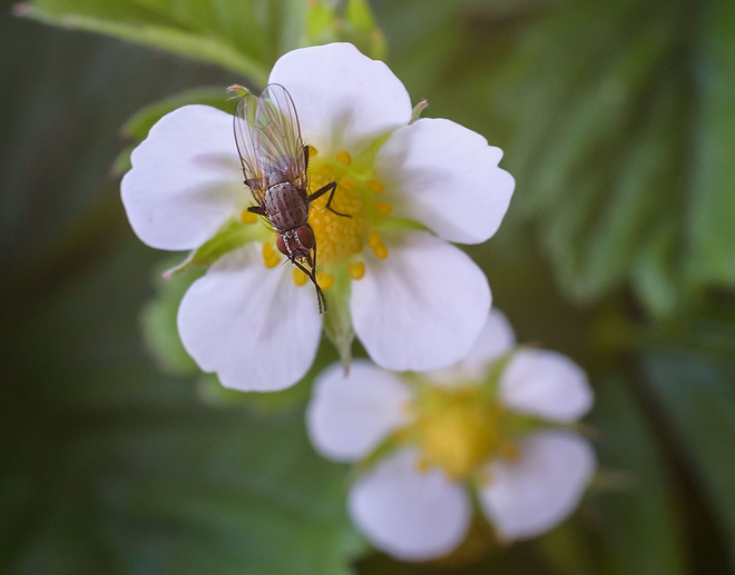
[[[349,43],[294,50],[270,82],[295,102],[311,146],[310,187],[336,181],[334,207],[352,216],[322,200],[310,212],[327,299],[333,285],[347,286],[354,331],[376,364],[453,364],[477,339],[491,298],[480,268],[449,241],[477,244],[498,229],[513,190],[498,167],[501,150],[449,120],[409,123],[401,81]],[[306,277],[280,265],[275,235],[244,211],[253,198],[232,123],[206,106],[161,118],[133,152],[122,201],[138,237],[159,249],[196,249],[241,217],[249,226],[251,241],[188,290],[178,329],[225,386],[282,389],[312,365],[324,318]]]

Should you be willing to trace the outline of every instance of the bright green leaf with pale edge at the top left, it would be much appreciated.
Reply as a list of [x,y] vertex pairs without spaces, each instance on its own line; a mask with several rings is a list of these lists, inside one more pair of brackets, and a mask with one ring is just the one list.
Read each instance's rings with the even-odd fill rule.
[[31,0],[20,13],[207,61],[261,86],[277,57],[297,47],[305,22],[294,0]]

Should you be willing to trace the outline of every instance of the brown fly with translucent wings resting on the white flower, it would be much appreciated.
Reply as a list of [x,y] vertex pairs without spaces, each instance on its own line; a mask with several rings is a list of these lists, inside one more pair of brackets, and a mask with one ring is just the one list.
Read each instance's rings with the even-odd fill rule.
[[235,142],[255,206],[248,211],[267,219],[278,237],[276,247],[312,280],[320,313],[326,310],[324,294],[316,282],[316,238],[308,225],[311,204],[329,194],[332,208],[336,182],[308,194],[308,146],[301,137],[296,107],[288,91],[270,83],[259,98],[246,93],[237,102],[234,119]]

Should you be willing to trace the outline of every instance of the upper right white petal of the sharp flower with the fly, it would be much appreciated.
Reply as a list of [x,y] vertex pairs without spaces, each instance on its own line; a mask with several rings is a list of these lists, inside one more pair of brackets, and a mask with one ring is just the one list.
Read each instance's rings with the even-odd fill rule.
[[500,226],[516,182],[498,167],[499,148],[450,120],[423,118],[395,130],[375,158],[396,216],[437,235],[480,244]]

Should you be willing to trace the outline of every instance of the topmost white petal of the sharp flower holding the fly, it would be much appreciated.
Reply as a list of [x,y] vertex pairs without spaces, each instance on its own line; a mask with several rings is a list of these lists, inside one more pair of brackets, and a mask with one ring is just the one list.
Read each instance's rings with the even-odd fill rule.
[[268,81],[288,90],[304,141],[320,155],[341,149],[355,155],[411,119],[401,80],[350,43],[293,50],[278,59]]

